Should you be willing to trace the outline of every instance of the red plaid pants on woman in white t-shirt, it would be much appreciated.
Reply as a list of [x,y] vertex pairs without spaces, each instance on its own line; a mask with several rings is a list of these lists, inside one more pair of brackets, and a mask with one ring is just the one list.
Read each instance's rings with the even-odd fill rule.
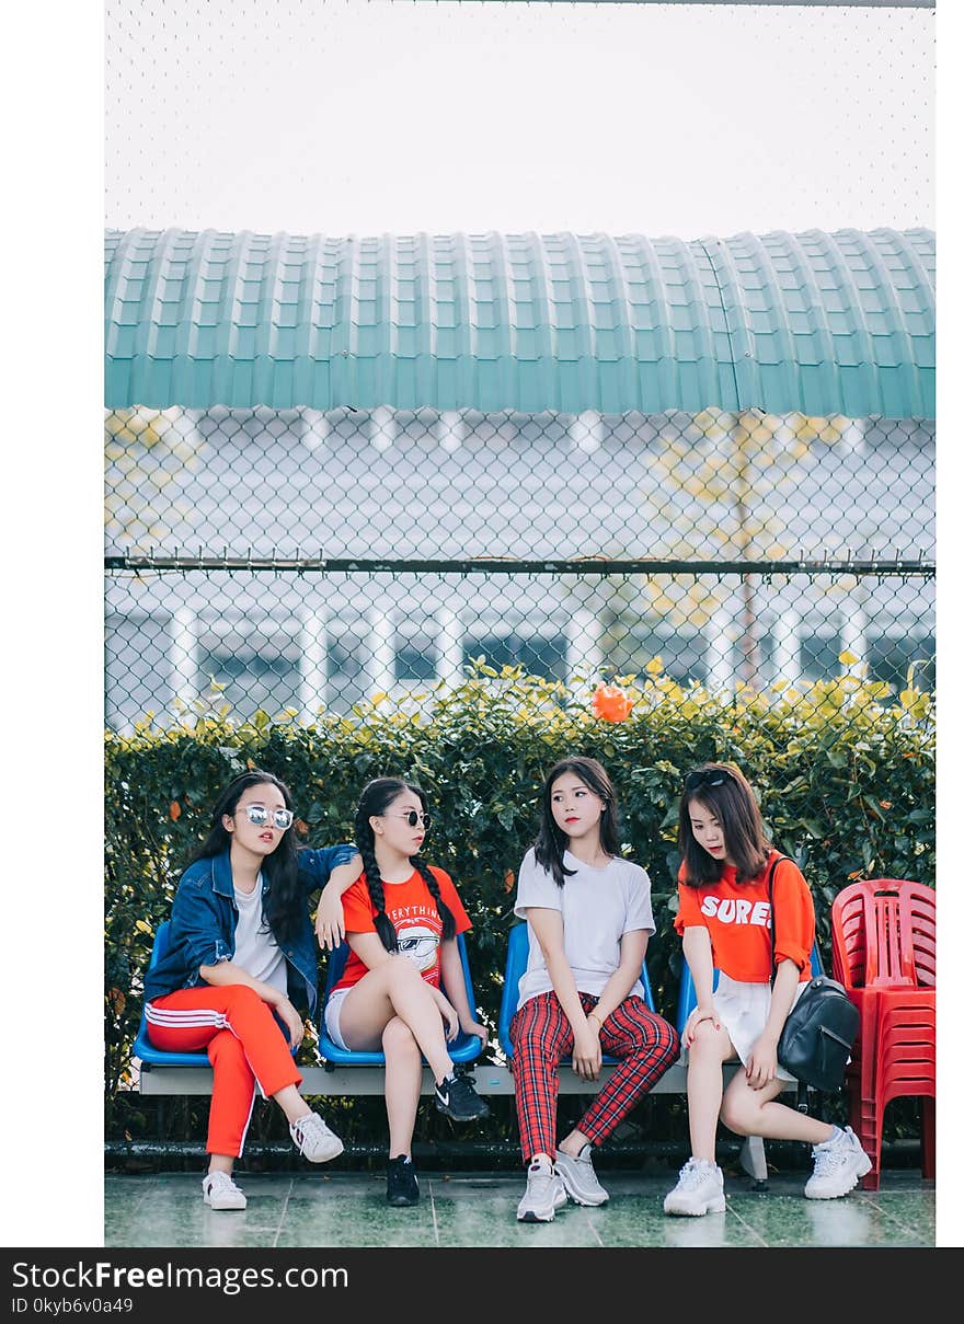
[[[591,993],[580,993],[579,1000],[587,1014],[599,1002]],[[536,1153],[551,1158],[556,1152],[559,1063],[573,1046],[569,1018],[555,993],[536,993],[515,1013],[508,1033],[522,1157],[526,1164]],[[602,1051],[618,1063],[579,1123],[596,1145],[679,1057],[679,1035],[638,994],[609,1013],[599,1039]]]

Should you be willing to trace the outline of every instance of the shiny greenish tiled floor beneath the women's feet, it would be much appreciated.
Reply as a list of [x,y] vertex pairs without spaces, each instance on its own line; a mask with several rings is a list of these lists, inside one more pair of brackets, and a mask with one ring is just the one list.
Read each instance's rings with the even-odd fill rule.
[[665,1174],[600,1170],[610,1201],[567,1205],[551,1223],[519,1223],[522,1174],[421,1174],[421,1202],[392,1209],[376,1173],[238,1173],[242,1213],[215,1213],[197,1173],[109,1174],[105,1246],[124,1247],[528,1247],[528,1246],[926,1246],[935,1245],[935,1192],[916,1170],[885,1172],[877,1192],[804,1198],[805,1172],[772,1174],[768,1189],[727,1176],[727,1211],[666,1218]]

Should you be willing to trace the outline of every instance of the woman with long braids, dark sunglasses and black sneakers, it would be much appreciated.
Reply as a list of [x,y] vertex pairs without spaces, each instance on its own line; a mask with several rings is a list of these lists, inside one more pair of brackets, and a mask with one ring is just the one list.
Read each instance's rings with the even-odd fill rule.
[[418,1201],[412,1135],[422,1057],[440,1112],[457,1121],[489,1116],[446,1046],[461,1027],[485,1047],[489,1031],[469,1006],[456,941],[471,923],[452,878],[420,854],[429,824],[425,796],[408,781],[377,777],[362,792],[355,841],[364,873],[342,896],[350,952],[324,1009],[335,1043],[385,1055],[387,1198],[397,1206]]

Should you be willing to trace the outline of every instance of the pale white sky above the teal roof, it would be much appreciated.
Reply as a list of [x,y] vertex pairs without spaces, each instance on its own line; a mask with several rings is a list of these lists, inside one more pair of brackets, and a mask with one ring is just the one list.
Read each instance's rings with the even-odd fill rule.
[[[106,224],[934,225],[934,12],[107,0]],[[896,56],[896,58],[894,58]]]

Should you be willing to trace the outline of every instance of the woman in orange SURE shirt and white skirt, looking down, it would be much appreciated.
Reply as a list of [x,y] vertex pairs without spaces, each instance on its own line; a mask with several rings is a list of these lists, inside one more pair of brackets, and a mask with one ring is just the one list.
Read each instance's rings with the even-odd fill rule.
[[[738,1136],[813,1147],[810,1200],[845,1196],[870,1172],[850,1127],[818,1121],[779,1102],[793,1076],[777,1062],[791,1008],[810,978],[813,898],[792,859],[773,850],[749,782],[732,764],[707,763],[683,782],[679,802],[679,910],[675,929],[697,1005],[683,1027],[693,1156],[663,1201],[667,1214],[723,1213],[716,1123]],[[769,882],[780,916],[771,943]],[[776,963],[776,977],[771,974]],[[714,992],[714,967],[719,970]],[[723,1090],[723,1063],[739,1059]]]

